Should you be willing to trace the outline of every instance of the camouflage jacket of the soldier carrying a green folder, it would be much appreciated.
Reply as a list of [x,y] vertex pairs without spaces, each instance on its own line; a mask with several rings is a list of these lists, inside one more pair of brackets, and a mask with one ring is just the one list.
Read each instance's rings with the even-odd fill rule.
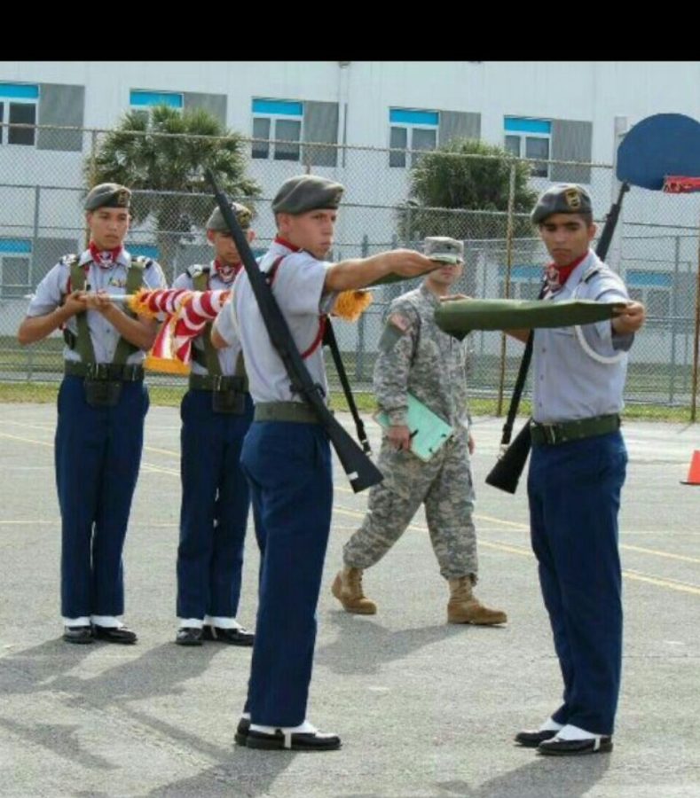
[[435,323],[440,302],[423,284],[389,306],[374,365],[374,393],[393,425],[406,422],[406,394],[454,427],[468,426],[466,340]]

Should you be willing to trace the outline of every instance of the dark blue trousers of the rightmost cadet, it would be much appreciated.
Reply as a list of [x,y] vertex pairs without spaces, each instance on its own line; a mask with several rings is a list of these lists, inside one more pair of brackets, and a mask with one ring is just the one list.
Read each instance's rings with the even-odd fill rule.
[[560,724],[613,732],[622,665],[617,512],[627,452],[619,432],[534,446],[532,549],[564,682]]

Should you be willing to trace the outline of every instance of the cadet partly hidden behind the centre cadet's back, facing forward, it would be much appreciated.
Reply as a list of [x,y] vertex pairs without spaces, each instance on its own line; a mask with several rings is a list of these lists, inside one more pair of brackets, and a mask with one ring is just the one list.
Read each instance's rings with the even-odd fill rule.
[[[232,211],[252,241],[252,214],[238,203]],[[207,238],[214,260],[191,266],[173,288],[196,291],[231,288],[241,264],[232,235],[216,207],[208,218]],[[229,314],[226,314],[229,316]],[[243,438],[253,420],[240,341],[230,327],[215,333],[208,324],[193,342],[189,391],[182,418],[182,505],[177,548],[176,643],[201,645],[217,640],[253,645],[253,634],[236,620],[250,494],[240,470]]]

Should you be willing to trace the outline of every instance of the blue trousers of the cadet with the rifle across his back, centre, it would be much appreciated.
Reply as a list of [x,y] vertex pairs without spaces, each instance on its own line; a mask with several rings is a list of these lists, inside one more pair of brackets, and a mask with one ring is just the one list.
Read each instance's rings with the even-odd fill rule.
[[254,724],[296,726],[306,717],[331,525],[330,445],[318,424],[255,421],[241,465],[263,537],[246,710]]

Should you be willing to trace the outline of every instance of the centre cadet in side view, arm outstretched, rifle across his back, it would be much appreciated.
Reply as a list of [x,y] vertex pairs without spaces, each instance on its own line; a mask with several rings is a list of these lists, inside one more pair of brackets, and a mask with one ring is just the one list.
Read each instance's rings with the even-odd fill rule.
[[[287,180],[272,200],[278,236],[260,263],[295,346],[326,396],[321,341],[324,314],[336,293],[367,286],[391,272],[415,277],[437,265],[409,250],[326,262],[342,191],[342,185],[323,177]],[[245,272],[219,319],[231,309],[256,405],[241,464],[263,539],[248,700],[236,741],[256,748],[330,750],[340,747],[340,738],[318,732],[306,718],[333,505],[330,445],[311,407],[292,390]]]

